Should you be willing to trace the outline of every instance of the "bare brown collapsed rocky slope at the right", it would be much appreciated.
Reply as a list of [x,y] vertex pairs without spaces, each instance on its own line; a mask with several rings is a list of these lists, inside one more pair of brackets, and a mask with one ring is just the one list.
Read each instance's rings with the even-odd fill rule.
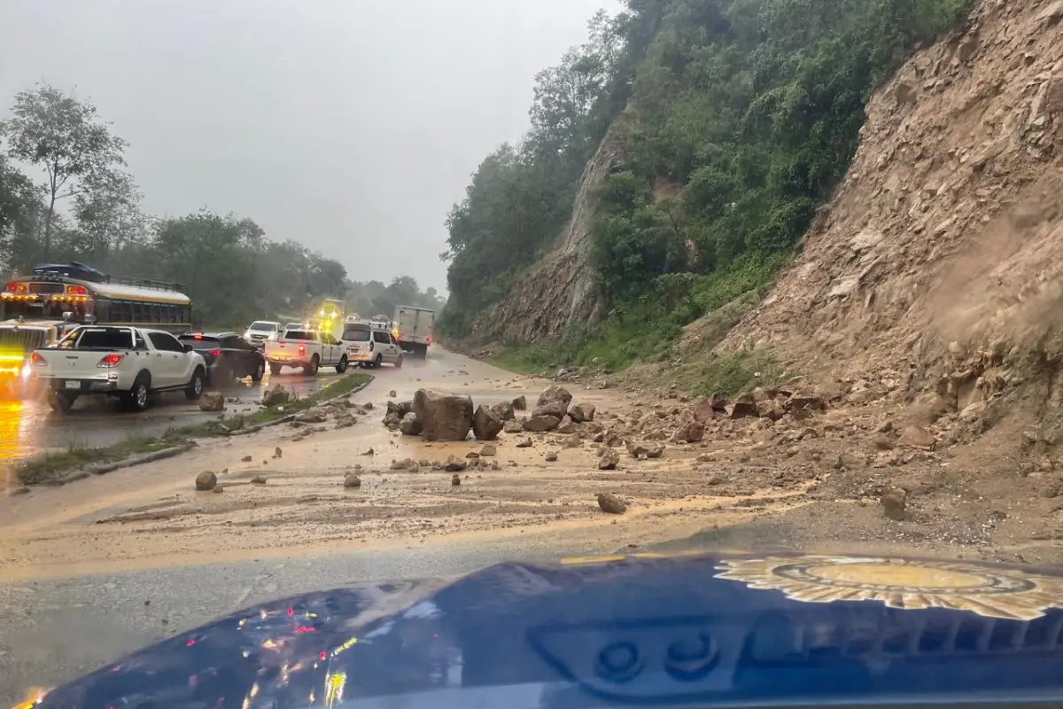
[[720,348],[968,417],[1054,371],[1061,151],[1063,0],[985,0],[872,99],[800,255]]

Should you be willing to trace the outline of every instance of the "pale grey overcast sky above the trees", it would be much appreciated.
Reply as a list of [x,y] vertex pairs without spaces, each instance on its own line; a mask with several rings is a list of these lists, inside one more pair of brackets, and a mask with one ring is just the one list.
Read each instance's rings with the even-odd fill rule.
[[251,217],[359,281],[446,286],[443,226],[613,0],[0,0],[0,115],[37,81],[130,141],[152,214]]

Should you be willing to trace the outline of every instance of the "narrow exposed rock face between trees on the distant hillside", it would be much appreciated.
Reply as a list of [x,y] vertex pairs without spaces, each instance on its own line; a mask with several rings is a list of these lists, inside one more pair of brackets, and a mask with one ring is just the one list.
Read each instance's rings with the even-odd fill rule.
[[604,303],[594,290],[590,259],[591,196],[622,159],[623,118],[609,129],[587,163],[572,217],[553,249],[520,277],[505,299],[474,322],[478,339],[533,342],[558,337],[571,324],[603,316]]

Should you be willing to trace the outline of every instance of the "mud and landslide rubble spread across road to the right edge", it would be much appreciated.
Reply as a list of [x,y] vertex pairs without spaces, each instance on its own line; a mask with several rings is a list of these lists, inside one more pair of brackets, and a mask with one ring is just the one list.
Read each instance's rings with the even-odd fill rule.
[[[686,538],[693,546],[1060,556],[1046,536],[1050,499],[1036,497],[1036,509],[1024,501],[1030,513],[1012,511],[1007,496],[979,487],[976,461],[934,450],[874,406],[800,421],[725,416],[709,422],[704,440],[684,443],[672,440],[690,407],[684,398],[590,378],[566,385],[573,403],[594,404],[614,437],[660,442],[662,457],[639,459],[618,443],[617,469],[600,470],[588,436],[567,448],[569,436],[533,434],[519,448],[528,434],[503,434],[494,455],[459,473],[459,485],[438,463],[477,460],[467,456],[482,454],[483,443],[427,443],[382,425],[387,401],[422,387],[494,404],[521,394],[534,402],[549,384],[440,352],[378,370],[351,400],[349,411],[372,406],[353,426],[328,419],[204,440],[172,460],[0,500],[0,580],[513,538],[529,550],[603,553]],[[392,469],[406,458],[420,461],[416,470]],[[195,490],[204,471],[217,474],[222,492]],[[343,486],[352,473],[360,487]],[[603,512],[601,492],[627,511]],[[885,513],[892,494],[905,496],[904,520]]]

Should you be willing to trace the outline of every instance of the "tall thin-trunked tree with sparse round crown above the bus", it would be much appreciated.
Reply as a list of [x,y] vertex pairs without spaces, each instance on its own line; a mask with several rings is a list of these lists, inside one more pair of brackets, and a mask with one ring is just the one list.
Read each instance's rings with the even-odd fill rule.
[[96,106],[58,89],[41,85],[15,96],[13,118],[0,122],[9,138],[9,154],[44,168],[46,210],[44,257],[51,256],[55,202],[106,181],[106,173],[124,165],[125,141],[111,134]]

